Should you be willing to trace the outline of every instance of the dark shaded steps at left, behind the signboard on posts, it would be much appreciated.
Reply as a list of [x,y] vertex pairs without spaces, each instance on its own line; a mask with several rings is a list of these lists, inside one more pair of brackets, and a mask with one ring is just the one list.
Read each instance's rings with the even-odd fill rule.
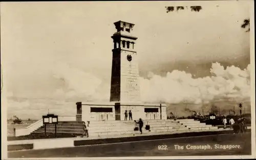
[[[84,124],[83,121],[59,121],[58,124],[56,124],[56,133],[65,137],[81,136],[83,134]],[[32,134],[45,134],[45,126],[39,127],[33,131]],[[46,134],[55,134],[55,124],[46,125]]]

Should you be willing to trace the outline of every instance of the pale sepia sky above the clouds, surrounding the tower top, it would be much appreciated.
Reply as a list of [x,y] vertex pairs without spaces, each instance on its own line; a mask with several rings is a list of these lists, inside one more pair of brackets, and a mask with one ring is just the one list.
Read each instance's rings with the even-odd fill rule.
[[[169,13],[165,9],[195,5],[203,9]],[[45,112],[87,97],[108,97],[111,36],[118,20],[135,24],[132,34],[138,37],[142,78],[174,70],[206,77],[215,62],[224,69],[234,65],[243,70],[250,63],[249,33],[241,28],[249,18],[249,5],[249,1],[1,3],[8,114],[24,109]]]

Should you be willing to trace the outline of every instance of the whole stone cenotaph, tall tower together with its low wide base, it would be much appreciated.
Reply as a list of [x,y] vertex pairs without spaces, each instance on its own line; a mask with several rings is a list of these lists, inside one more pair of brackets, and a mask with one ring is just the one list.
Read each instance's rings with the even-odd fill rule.
[[166,119],[165,104],[148,104],[140,100],[138,53],[131,33],[134,25],[124,21],[114,23],[117,32],[111,37],[112,73],[110,101],[105,103],[77,102],[77,121],[124,120],[124,112],[131,111],[133,120]]

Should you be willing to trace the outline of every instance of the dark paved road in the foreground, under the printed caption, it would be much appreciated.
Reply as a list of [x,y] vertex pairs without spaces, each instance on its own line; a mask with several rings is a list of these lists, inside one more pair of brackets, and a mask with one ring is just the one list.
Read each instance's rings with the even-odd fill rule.
[[[232,149],[215,148],[215,145],[233,145]],[[166,145],[166,148],[164,149]],[[175,149],[175,145],[184,149]],[[187,145],[209,145],[211,149],[186,149]],[[237,145],[237,146],[235,146]],[[162,146],[163,149],[158,149]],[[240,146],[240,148],[238,148]],[[151,140],[116,144],[79,146],[45,150],[8,152],[9,158],[18,157],[99,157],[99,156],[191,156],[191,155],[250,155],[251,134],[226,134],[178,139]]]

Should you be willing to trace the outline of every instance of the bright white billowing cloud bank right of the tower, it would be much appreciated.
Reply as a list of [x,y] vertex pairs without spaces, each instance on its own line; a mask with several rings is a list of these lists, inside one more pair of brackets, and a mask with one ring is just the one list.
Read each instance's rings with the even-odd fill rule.
[[232,97],[237,101],[250,98],[250,65],[244,70],[238,67],[224,69],[219,63],[213,63],[212,76],[193,78],[184,71],[174,70],[166,76],[140,78],[141,97],[146,102],[199,104],[218,97]]

